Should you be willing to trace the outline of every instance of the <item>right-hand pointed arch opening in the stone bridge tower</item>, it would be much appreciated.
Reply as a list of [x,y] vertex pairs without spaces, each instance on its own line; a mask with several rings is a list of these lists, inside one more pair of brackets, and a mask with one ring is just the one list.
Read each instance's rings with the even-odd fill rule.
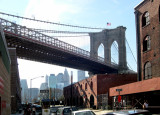
[[119,64],[119,48],[117,41],[111,45],[111,62]]

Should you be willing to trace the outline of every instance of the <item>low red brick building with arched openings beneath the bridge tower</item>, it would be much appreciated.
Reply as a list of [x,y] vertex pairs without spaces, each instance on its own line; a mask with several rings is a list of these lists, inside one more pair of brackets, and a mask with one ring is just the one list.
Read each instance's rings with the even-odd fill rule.
[[[109,88],[137,81],[137,74],[99,74],[64,88],[65,105],[101,108],[111,106]],[[72,88],[71,88],[72,87]],[[107,100],[104,103],[103,95]]]

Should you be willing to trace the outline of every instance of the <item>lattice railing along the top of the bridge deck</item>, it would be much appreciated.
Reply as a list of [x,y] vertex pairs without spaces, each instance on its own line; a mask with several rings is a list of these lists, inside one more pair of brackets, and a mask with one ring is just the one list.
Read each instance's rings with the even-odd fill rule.
[[26,28],[26,26],[21,26],[16,23],[10,22],[8,20],[0,18],[0,23],[4,29],[4,32],[13,36],[20,37],[22,39],[31,40],[32,42],[36,42],[39,44],[43,44],[49,47],[58,48],[60,50],[64,50],[70,53],[74,53],[78,56],[83,56],[85,58],[88,58],[90,60],[94,60],[96,62],[112,66],[114,68],[117,68],[118,65],[115,63],[107,63],[104,61],[104,58],[97,56],[97,57],[91,57],[89,51],[85,51],[81,48],[78,48],[76,46],[70,45],[68,43],[65,43],[61,40],[58,40],[56,38],[47,36],[45,34],[42,34],[40,32],[34,31],[33,29]]

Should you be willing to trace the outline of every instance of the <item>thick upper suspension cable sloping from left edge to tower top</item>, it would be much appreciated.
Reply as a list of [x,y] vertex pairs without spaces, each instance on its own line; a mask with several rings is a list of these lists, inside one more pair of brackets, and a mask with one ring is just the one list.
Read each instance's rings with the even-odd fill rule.
[[16,15],[12,15],[12,14],[8,14],[8,13],[3,13],[3,12],[0,12],[0,14],[7,15],[7,16],[12,16],[12,17],[16,17],[16,18],[21,18],[21,19],[26,19],[26,20],[31,20],[31,21],[37,21],[37,22],[43,22],[43,23],[48,23],[48,24],[54,24],[54,25],[76,27],[76,28],[85,28],[85,29],[98,29],[98,30],[99,29],[100,30],[105,29],[105,28],[94,28],[94,27],[86,27],[86,26],[76,26],[76,25],[70,25],[70,24],[62,24],[62,23],[43,21],[43,20],[37,20],[37,19],[32,19],[32,18],[26,18],[26,17],[22,17],[22,16],[16,16]]

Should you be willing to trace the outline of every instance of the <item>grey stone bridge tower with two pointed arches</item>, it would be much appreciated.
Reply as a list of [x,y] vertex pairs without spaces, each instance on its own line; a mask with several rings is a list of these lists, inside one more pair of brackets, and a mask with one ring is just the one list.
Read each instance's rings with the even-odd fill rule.
[[126,62],[126,27],[119,26],[115,29],[105,29],[102,32],[89,33],[90,35],[90,53],[91,56],[98,56],[98,48],[102,43],[104,45],[104,61],[111,64],[111,46],[114,41],[118,44],[119,52],[119,73],[128,69]]

